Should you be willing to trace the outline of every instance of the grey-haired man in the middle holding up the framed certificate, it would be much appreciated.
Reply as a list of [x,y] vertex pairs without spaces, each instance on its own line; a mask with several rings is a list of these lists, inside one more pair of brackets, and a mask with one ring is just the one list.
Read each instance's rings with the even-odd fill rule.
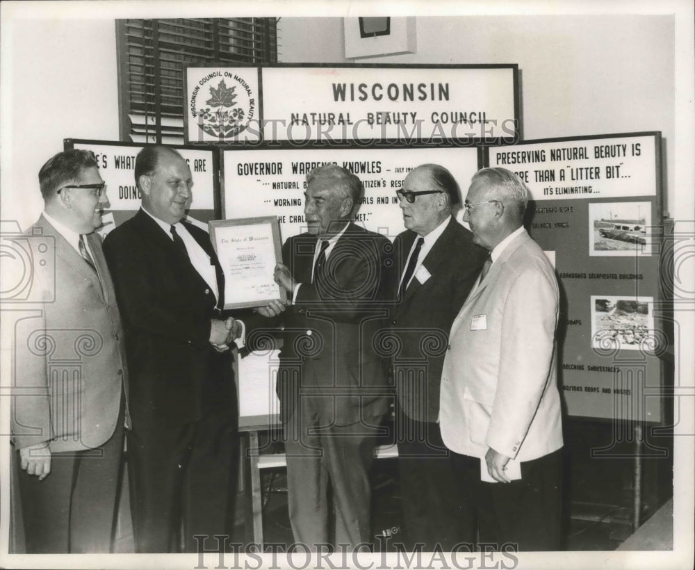
[[290,520],[295,541],[325,548],[330,485],[335,542],[355,548],[371,539],[369,471],[389,409],[384,359],[373,343],[386,316],[392,245],[350,222],[362,189],[354,174],[331,164],[306,180],[309,233],[286,241],[275,272],[292,300],[277,377]]

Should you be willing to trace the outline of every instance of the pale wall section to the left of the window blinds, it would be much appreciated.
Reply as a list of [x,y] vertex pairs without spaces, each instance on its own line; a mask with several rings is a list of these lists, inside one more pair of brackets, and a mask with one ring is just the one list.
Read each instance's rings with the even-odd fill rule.
[[[4,23],[3,23],[4,24]],[[43,209],[38,171],[63,138],[118,140],[115,22],[15,19],[3,25],[2,219]]]

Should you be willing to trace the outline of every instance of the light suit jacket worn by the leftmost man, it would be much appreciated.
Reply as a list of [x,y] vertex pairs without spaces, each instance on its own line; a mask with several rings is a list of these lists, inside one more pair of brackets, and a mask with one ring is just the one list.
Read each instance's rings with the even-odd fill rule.
[[[32,297],[41,302],[35,307],[40,316],[19,320],[15,328],[13,441],[16,448],[49,441],[51,452],[97,448],[115,430],[128,384],[101,238],[87,236],[97,277],[43,215],[26,235],[41,242],[33,252],[31,284]],[[55,264],[41,263],[47,259]]]

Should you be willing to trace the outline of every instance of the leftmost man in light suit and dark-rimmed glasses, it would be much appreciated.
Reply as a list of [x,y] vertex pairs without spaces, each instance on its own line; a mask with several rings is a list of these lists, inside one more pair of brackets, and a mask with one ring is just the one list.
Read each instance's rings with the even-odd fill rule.
[[92,152],[39,172],[44,212],[33,295],[15,329],[13,442],[27,553],[108,553],[123,451],[128,374],[111,275],[95,229],[106,204]]

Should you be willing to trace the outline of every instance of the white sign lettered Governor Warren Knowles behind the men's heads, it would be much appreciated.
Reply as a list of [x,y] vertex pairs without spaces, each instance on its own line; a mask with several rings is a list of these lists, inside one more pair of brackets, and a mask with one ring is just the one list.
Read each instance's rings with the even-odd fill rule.
[[405,229],[395,191],[408,172],[425,163],[443,165],[465,193],[478,169],[478,153],[472,147],[224,150],[224,218],[277,215],[282,241],[306,231],[306,174],[326,163],[344,166],[364,185],[363,203],[354,220],[393,239]]

